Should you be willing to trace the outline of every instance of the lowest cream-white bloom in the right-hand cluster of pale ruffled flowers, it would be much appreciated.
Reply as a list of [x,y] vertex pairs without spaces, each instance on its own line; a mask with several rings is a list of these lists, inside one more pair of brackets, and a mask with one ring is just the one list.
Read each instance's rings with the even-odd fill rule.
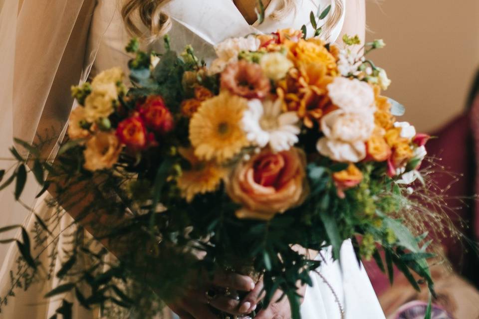
[[347,143],[324,137],[318,140],[316,149],[322,156],[340,162],[356,163],[366,157],[366,145],[361,141]]

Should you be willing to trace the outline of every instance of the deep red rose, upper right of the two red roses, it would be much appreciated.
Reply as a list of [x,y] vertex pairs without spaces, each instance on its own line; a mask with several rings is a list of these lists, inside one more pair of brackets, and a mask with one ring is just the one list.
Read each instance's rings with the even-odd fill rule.
[[140,106],[140,115],[147,127],[157,133],[168,133],[173,129],[173,116],[161,96],[150,96]]

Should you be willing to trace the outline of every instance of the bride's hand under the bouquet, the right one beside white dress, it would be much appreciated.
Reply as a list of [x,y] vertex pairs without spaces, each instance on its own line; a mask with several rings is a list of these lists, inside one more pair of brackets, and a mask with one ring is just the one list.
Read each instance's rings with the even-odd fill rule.
[[[304,294],[306,293],[306,285],[301,286],[298,289],[298,294],[303,296],[301,298],[301,303],[304,299]],[[266,309],[262,309],[254,319],[290,319],[291,318],[291,308],[289,306],[289,301],[287,298],[283,298],[278,301],[283,292],[278,290],[271,298],[271,302]],[[242,300],[241,306],[249,305],[249,312],[253,311],[256,308],[256,305],[264,298],[265,292],[263,291],[263,282],[259,281],[254,289]]]

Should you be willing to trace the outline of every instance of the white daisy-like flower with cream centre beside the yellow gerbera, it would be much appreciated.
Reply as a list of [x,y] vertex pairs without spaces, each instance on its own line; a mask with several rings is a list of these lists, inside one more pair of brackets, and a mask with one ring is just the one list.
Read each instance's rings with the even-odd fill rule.
[[300,130],[296,112],[281,113],[281,100],[254,99],[243,112],[243,130],[249,141],[263,148],[269,144],[273,152],[289,150],[298,142]]

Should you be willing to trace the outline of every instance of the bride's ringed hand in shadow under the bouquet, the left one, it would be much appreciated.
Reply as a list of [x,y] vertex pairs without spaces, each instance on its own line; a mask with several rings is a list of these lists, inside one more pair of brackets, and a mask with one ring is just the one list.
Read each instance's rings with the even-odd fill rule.
[[217,319],[218,316],[213,313],[211,307],[237,316],[252,311],[254,306],[248,302],[242,302],[240,305],[239,299],[217,293],[218,288],[231,292],[252,292],[255,285],[247,276],[232,273],[217,274],[212,282],[201,287],[192,287],[183,298],[169,304],[168,307],[181,319]]

